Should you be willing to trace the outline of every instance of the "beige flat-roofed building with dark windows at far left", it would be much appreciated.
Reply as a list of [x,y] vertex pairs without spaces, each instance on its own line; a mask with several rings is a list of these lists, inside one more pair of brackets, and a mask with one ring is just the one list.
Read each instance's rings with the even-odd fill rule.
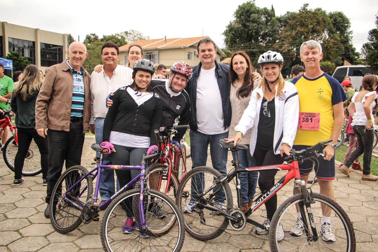
[[0,57],[17,51],[45,70],[67,59],[67,34],[0,22]]

